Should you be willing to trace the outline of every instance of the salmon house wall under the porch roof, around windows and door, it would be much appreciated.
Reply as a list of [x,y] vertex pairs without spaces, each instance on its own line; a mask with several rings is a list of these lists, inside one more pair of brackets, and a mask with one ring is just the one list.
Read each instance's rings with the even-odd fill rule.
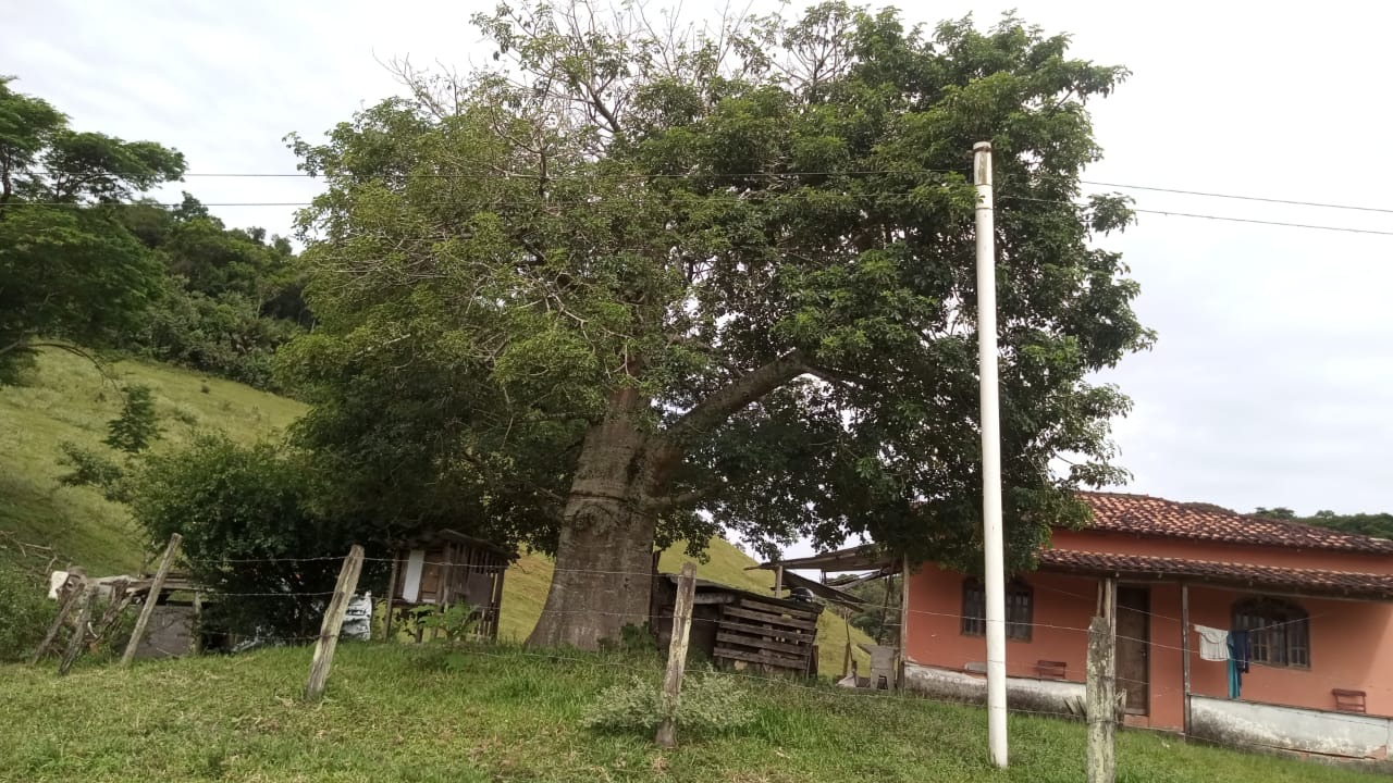
[[[1035,591],[1035,626],[1029,642],[1007,641],[1007,674],[1038,677],[1036,660],[1063,660],[1066,679],[1084,681],[1088,623],[1098,600],[1098,580],[1063,574],[1029,574]],[[1151,592],[1149,674],[1153,727],[1184,723],[1180,635],[1180,587],[1127,582]],[[1233,603],[1250,598],[1231,589],[1190,588],[1190,621],[1227,628]],[[1354,600],[1291,599],[1311,616],[1311,669],[1254,665],[1243,679],[1244,701],[1334,709],[1332,688],[1362,690],[1371,715],[1393,716],[1393,605]],[[910,575],[905,653],[914,663],[964,669],[986,660],[986,638],[961,630],[963,577],[936,566]],[[1199,639],[1190,635],[1191,692],[1224,698],[1227,663],[1199,659]],[[1380,677],[1379,672],[1385,676]]]

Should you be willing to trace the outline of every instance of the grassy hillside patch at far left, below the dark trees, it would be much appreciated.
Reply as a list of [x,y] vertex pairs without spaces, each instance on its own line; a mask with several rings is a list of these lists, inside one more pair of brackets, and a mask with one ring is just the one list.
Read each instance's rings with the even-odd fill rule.
[[[107,378],[109,376],[109,378]],[[60,444],[111,454],[102,440],[120,414],[118,385],[153,390],[163,436],[155,449],[187,443],[198,429],[220,429],[244,442],[274,437],[304,405],[167,365],[123,361],[107,366],[61,350],[45,350],[21,386],[0,387],[0,531],[24,543],[52,546],[54,567],[84,566],[91,574],[128,571],[141,564],[139,538],[130,514],[91,488],[59,483]],[[208,392],[203,392],[208,389]],[[47,557],[22,557],[14,541],[0,549],[0,566],[42,568]]]

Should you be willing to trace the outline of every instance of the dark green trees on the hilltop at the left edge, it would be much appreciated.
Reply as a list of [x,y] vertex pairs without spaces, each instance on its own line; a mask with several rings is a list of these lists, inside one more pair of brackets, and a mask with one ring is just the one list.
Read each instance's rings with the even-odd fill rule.
[[184,194],[125,203],[184,171],[180,153],[68,130],[0,78],[0,382],[35,337],[114,346],[256,386],[311,322],[290,242],[228,230]]

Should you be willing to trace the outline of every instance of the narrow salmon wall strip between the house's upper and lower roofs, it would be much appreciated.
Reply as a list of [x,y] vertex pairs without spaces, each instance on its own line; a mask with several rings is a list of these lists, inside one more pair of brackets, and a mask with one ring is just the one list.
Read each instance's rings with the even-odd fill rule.
[[1211,541],[1180,541],[1173,538],[1138,536],[1106,531],[1067,529],[1055,531],[1052,545],[1059,549],[1107,552],[1112,555],[1188,557],[1192,560],[1247,563],[1256,566],[1276,566],[1282,568],[1325,568],[1330,571],[1355,571],[1362,574],[1393,574],[1393,557],[1389,557],[1387,555],[1358,555],[1354,552],[1325,552],[1319,549],[1282,549],[1276,546],[1219,543]]

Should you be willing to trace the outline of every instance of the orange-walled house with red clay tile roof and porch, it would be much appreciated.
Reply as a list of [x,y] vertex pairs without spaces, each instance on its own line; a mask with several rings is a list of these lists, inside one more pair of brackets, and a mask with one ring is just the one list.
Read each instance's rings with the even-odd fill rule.
[[[1038,570],[1007,584],[1013,708],[1081,711],[1088,626],[1105,591],[1116,591],[1116,677],[1127,724],[1323,757],[1386,757],[1393,541],[1141,495],[1082,499],[1091,525],[1056,529]],[[811,563],[818,557],[807,560],[819,567]],[[871,556],[864,567],[883,564]],[[985,697],[983,606],[976,578],[910,566],[904,687]],[[1247,633],[1251,660],[1237,694],[1229,662],[1202,656],[1197,627]]]

